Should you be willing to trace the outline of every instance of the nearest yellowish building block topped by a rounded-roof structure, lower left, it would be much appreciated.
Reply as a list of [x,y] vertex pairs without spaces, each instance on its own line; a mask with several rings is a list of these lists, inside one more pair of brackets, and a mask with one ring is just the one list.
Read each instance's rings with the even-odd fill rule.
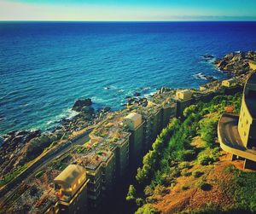
[[84,167],[68,165],[55,177],[55,192],[59,200],[46,213],[87,213],[88,182]]

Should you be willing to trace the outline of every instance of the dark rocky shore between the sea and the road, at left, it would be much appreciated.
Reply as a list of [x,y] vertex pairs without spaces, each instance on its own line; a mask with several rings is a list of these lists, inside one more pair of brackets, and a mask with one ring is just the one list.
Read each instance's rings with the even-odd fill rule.
[[82,130],[104,119],[110,107],[95,110],[90,99],[79,99],[73,105],[78,114],[72,119],[61,119],[50,131],[14,130],[0,137],[0,179],[3,175],[36,158],[52,143],[65,140],[74,131]]

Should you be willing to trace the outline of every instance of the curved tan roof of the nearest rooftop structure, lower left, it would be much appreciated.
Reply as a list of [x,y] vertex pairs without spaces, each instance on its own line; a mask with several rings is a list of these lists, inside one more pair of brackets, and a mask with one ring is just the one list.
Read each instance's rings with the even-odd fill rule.
[[83,173],[85,173],[84,167],[80,165],[68,165],[64,171],[61,171],[59,176],[55,177],[54,181],[64,182],[65,184],[72,186],[77,177],[81,176]]

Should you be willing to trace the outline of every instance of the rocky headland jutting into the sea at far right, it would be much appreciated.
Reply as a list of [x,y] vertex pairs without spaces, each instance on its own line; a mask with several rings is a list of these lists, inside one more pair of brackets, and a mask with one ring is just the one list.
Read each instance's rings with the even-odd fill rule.
[[216,67],[235,76],[250,72],[249,61],[256,61],[256,51],[235,52],[215,61]]

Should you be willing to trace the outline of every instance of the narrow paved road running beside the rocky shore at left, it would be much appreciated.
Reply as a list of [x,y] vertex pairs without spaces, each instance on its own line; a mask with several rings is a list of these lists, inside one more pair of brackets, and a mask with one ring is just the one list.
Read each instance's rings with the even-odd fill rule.
[[63,146],[58,147],[54,151],[47,153],[42,159],[39,159],[26,171],[22,172],[20,176],[17,176],[15,180],[9,182],[0,192],[0,207],[8,202],[8,200],[15,194],[15,191],[20,187],[20,184],[31,177],[36,171],[44,167],[49,161],[59,158],[61,154],[67,153],[74,145],[82,145],[89,140],[89,134],[92,129],[85,131],[83,134],[77,136],[72,141],[65,143]]

